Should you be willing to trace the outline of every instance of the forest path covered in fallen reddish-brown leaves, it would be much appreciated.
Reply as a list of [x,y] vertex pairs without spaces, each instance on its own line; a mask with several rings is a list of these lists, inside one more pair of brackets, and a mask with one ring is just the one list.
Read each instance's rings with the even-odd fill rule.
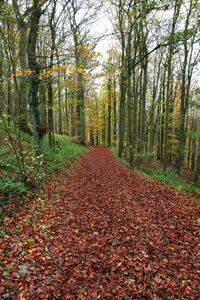
[[[16,265],[1,295],[15,287],[9,299],[198,299],[195,202],[121,166],[104,147],[72,169],[46,186],[28,217],[19,214]],[[19,236],[29,238],[23,255]]]

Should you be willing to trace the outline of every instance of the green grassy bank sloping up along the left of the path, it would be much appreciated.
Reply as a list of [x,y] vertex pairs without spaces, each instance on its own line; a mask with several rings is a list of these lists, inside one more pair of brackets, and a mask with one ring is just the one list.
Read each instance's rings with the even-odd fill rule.
[[[13,139],[16,134],[11,131]],[[33,151],[33,140],[27,134],[21,133],[22,148],[25,153],[25,163],[30,178],[36,178],[37,183],[42,184],[55,171],[66,170],[65,165],[71,164],[76,158],[86,152],[86,148],[74,144],[66,136],[55,135],[56,147],[52,151],[48,147],[48,138],[44,138],[44,162],[41,160],[40,170],[34,174],[34,167],[38,166]],[[16,145],[16,144],[15,144]],[[10,202],[12,197],[27,198],[31,188],[22,181],[16,157],[10,147],[7,135],[0,122],[0,215],[5,204]]]

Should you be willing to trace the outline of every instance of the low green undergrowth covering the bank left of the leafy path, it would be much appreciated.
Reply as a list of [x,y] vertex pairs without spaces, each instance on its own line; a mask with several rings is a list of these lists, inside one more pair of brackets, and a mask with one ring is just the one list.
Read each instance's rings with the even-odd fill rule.
[[33,137],[16,127],[9,127],[8,130],[10,138],[0,120],[0,215],[5,205],[10,203],[10,195],[16,202],[20,202],[20,199],[27,193],[30,194],[35,187],[39,188],[38,193],[42,193],[41,187],[49,175],[86,151],[84,147],[71,143],[68,138],[55,135],[55,150],[49,149],[46,136],[44,155],[37,156]]

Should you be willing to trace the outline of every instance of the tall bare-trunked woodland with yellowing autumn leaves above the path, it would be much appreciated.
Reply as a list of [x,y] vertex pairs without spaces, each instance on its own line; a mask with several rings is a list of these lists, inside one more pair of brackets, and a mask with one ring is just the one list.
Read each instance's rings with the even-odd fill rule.
[[59,133],[197,182],[199,12],[198,0],[0,1],[0,118],[22,173],[20,132],[37,157]]

